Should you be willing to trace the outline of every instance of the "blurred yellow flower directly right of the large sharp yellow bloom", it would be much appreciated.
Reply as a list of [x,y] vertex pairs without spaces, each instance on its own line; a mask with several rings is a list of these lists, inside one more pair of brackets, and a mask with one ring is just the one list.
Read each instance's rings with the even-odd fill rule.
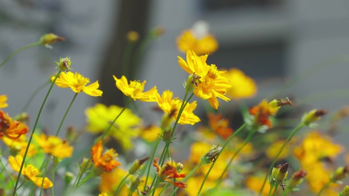
[[246,76],[241,70],[232,68],[223,74],[230,84],[231,88],[228,89],[227,94],[233,99],[251,98],[257,93],[256,82]]

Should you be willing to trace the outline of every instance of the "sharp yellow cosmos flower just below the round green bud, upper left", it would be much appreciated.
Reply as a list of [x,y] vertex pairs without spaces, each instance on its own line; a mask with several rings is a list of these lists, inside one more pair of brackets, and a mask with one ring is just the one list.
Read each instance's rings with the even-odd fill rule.
[[[53,81],[55,76],[51,77]],[[56,85],[61,88],[70,88],[73,92],[80,93],[84,92],[90,96],[102,96],[103,92],[98,90],[98,81],[91,83],[86,86],[90,80],[87,77],[82,76],[80,73],[62,72],[56,80]]]

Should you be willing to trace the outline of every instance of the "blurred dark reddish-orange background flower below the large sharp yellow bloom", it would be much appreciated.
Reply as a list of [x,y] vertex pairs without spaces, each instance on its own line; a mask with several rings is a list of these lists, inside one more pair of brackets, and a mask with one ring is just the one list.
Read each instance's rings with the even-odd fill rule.
[[233,133],[233,129],[228,127],[229,121],[222,119],[222,114],[208,114],[208,118],[211,129],[222,138],[226,139]]

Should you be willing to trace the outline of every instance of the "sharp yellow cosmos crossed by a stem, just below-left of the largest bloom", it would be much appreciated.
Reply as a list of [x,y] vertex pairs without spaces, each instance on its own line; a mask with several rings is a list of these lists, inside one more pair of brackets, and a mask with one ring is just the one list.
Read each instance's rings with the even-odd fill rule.
[[[164,91],[160,97],[159,94],[157,94],[157,102],[159,107],[167,114],[170,114],[174,120],[177,119],[179,110],[182,105],[182,100],[177,98],[172,98],[173,93],[169,90]],[[193,111],[196,108],[196,101],[193,101],[191,103],[188,103],[183,112],[182,115],[178,121],[179,124],[190,124],[193,125],[197,122],[200,122],[200,119],[194,115]]]

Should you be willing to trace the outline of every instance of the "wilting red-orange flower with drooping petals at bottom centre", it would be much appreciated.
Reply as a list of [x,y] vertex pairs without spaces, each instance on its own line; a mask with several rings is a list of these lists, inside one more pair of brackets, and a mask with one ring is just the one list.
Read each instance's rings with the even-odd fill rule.
[[178,186],[180,188],[185,188],[187,184],[184,182],[173,182],[171,179],[176,178],[184,178],[185,174],[178,173],[177,164],[174,161],[167,161],[162,167],[158,164],[159,158],[154,159],[153,166],[156,167],[156,171],[161,181],[166,181],[172,183],[174,186]]

